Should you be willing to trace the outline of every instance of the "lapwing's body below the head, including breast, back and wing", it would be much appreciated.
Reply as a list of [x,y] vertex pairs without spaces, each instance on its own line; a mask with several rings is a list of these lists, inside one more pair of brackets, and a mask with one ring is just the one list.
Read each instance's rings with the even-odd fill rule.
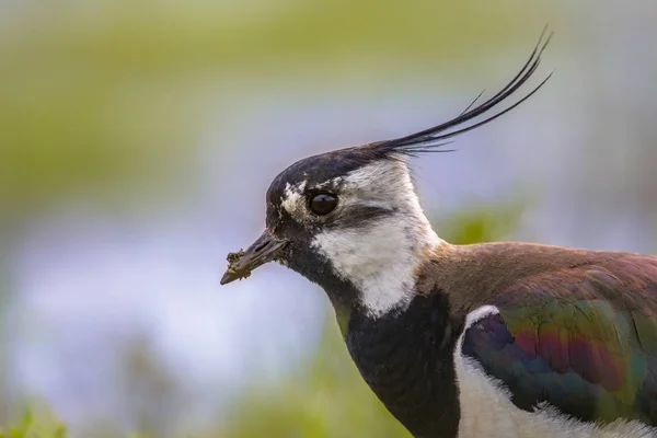
[[417,437],[650,437],[656,314],[657,257],[442,244],[404,311],[355,309],[344,334]]

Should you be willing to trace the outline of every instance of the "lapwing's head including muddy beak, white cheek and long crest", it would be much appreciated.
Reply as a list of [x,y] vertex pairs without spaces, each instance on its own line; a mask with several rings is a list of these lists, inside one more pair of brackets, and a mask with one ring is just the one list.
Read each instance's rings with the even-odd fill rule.
[[229,255],[221,284],[277,261],[322,286],[334,303],[359,304],[372,316],[403,307],[413,296],[423,256],[445,244],[423,212],[407,160],[445,151],[440,147],[454,136],[529,99],[550,77],[512,105],[488,113],[532,76],[543,48],[537,46],[500,92],[476,106],[475,100],[451,120],[402,138],[309,157],[284,170],[267,191],[265,231],[245,251]]

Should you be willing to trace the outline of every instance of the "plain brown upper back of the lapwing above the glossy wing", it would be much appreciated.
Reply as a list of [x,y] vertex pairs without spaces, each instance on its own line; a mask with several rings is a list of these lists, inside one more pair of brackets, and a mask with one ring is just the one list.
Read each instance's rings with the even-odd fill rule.
[[[643,263],[652,261],[657,266],[657,257],[647,255],[520,242],[445,244],[428,254],[426,260],[428,262],[415,273],[417,291],[420,295],[431,291],[446,293],[452,314],[465,314],[489,304],[495,296],[514,284],[539,280],[542,274],[548,275],[543,280],[556,273],[561,273],[557,279],[567,280],[568,270],[578,266],[590,265],[591,268],[618,272],[624,263],[638,260]],[[555,288],[552,292],[561,295],[567,293],[567,290]],[[623,291],[619,291],[618,296],[623,301]]]

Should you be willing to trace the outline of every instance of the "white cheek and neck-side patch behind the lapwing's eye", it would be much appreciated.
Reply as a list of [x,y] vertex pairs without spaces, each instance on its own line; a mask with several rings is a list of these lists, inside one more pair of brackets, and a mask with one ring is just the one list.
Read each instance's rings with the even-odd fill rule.
[[325,230],[312,245],[333,266],[335,275],[358,289],[370,318],[404,310],[415,293],[415,269],[427,247],[442,241],[431,229],[401,161],[376,162],[343,178],[353,194],[341,208],[372,206],[389,211],[367,226]]

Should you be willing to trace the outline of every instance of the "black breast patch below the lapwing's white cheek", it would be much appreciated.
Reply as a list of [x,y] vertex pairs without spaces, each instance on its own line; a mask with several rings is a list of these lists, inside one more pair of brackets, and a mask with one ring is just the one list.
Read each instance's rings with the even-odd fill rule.
[[372,320],[355,309],[347,347],[362,378],[416,437],[456,437],[459,392],[453,349],[463,320],[442,293],[416,296],[404,312]]

